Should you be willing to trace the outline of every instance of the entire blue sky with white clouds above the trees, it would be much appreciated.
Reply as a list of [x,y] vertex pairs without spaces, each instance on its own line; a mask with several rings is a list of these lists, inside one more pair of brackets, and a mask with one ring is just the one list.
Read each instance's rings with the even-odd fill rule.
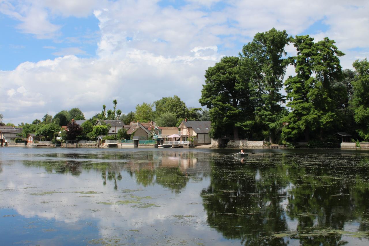
[[273,27],[335,40],[352,69],[369,57],[368,13],[366,0],[0,0],[0,114],[17,125],[79,107],[87,119],[114,99],[127,114],[174,95],[200,107],[206,69]]

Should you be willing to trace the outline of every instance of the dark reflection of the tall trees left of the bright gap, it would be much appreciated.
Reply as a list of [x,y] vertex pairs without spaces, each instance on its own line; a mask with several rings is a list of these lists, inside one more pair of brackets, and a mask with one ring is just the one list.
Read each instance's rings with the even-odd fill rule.
[[274,232],[287,230],[282,201],[288,184],[276,168],[213,164],[211,184],[201,192],[211,227],[245,245],[287,245]]

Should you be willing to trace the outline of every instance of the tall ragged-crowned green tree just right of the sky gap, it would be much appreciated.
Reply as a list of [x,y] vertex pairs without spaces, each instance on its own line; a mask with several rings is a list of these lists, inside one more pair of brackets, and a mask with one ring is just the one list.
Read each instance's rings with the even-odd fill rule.
[[[292,58],[296,76],[286,82],[287,106],[291,111],[284,121],[283,138],[310,139],[311,131],[323,140],[323,133],[342,128],[347,116],[349,81],[344,80],[340,56],[344,55],[328,38],[314,43],[305,36],[292,38],[297,56]],[[350,76],[350,75],[348,75]]]

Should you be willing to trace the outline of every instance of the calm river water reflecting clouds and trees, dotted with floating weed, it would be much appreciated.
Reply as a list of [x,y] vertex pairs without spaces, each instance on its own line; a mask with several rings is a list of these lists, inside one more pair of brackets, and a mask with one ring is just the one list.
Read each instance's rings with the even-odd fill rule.
[[369,151],[0,148],[0,245],[368,245]]

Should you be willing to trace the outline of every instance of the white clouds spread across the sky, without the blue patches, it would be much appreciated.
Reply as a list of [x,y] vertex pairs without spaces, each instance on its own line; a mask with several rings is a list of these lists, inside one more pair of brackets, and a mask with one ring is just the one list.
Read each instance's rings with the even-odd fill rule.
[[[229,1],[222,11],[207,11],[197,3],[175,9],[161,8],[151,1],[104,1],[100,6],[93,2],[85,7],[75,1],[57,1],[55,6],[50,6],[51,2],[28,3],[23,8],[3,2],[1,12],[23,21],[22,30],[39,37],[60,31],[49,23],[45,6],[51,14],[62,16],[93,12],[101,35],[97,57],[77,58],[74,55],[86,52],[72,47],[54,53],[64,57],[25,62],[13,71],[0,71],[0,81],[5,82],[0,84],[1,97],[14,99],[17,88],[26,90],[17,94],[20,103],[15,110],[14,104],[1,104],[4,117],[71,107],[90,112],[86,113],[90,117],[102,104],[110,105],[113,98],[124,113],[138,103],[173,95],[180,96],[187,106],[199,106],[205,70],[224,55],[237,55],[255,33],[272,27],[296,35],[322,21],[328,29],[313,37],[316,41],[334,39],[346,53],[341,58],[344,68],[351,68],[358,57],[368,56],[364,51],[352,51],[369,48],[366,1],[351,2],[350,6],[337,1],[310,1],[309,5],[304,1]],[[212,4],[214,1],[203,5]],[[352,7],[355,5],[358,7]],[[293,45],[286,49],[289,55],[296,52]],[[287,69],[286,77],[290,74],[293,68]]]

